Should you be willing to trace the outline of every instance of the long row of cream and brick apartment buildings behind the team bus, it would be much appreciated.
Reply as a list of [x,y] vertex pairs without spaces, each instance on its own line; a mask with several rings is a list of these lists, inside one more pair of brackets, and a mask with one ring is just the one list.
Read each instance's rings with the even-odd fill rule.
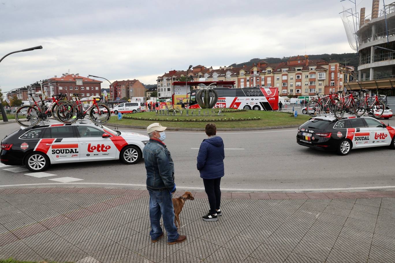
[[[237,88],[277,87],[282,96],[329,94],[343,90],[344,82],[356,77],[352,66],[345,67],[335,60],[309,60],[307,55],[295,56],[281,63],[262,60],[252,66],[213,69],[198,65],[192,69],[188,72],[188,79],[193,81],[235,81]],[[186,71],[174,70],[158,77],[158,96],[170,97],[173,81],[185,74]]]

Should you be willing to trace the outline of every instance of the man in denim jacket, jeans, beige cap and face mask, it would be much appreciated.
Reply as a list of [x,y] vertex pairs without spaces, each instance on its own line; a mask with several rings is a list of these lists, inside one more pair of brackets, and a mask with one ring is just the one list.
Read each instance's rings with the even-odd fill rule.
[[149,216],[151,221],[151,242],[163,237],[160,217],[167,231],[167,244],[181,243],[186,236],[179,235],[174,224],[172,193],[175,192],[174,164],[169,150],[163,141],[166,127],[152,123],[147,127],[150,137],[143,149],[145,169],[147,170],[147,189],[149,192]]

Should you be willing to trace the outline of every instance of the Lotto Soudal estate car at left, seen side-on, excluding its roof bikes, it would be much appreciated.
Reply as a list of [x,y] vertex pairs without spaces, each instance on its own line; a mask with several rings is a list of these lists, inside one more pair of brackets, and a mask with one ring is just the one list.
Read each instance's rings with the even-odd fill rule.
[[1,142],[1,162],[41,172],[50,164],[119,159],[135,164],[149,137],[91,123],[21,127]]

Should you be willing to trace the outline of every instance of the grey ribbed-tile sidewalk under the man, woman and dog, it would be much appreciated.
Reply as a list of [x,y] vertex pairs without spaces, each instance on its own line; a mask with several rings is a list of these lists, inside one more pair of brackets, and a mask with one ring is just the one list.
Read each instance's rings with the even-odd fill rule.
[[[175,196],[183,192],[177,192]],[[395,192],[224,192],[217,222],[193,192],[186,242],[151,243],[148,193],[0,189],[0,258],[58,262],[395,262]]]

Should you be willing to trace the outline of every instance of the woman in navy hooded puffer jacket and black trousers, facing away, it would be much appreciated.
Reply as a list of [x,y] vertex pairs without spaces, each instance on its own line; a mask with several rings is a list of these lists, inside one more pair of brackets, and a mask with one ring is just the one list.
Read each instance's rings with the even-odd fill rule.
[[200,144],[197,164],[210,204],[210,211],[203,216],[203,220],[216,221],[218,216],[222,216],[220,183],[225,174],[224,141],[216,136],[217,127],[214,123],[207,123],[205,130],[209,138]]

